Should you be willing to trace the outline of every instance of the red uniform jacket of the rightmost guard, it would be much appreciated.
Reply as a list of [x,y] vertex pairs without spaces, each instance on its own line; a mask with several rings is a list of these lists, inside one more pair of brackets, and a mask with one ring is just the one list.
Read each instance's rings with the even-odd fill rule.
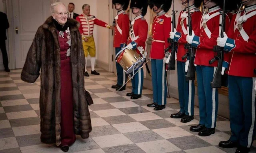
[[[247,12],[247,14],[249,13]],[[244,11],[241,16],[243,14]],[[225,54],[225,61],[229,63],[229,69],[226,72],[232,76],[256,77],[254,74],[254,69],[256,69],[256,15],[242,23],[244,31],[249,36],[248,42],[243,39],[237,28],[234,30],[236,16],[237,14],[233,16],[227,33],[229,38],[234,39],[235,47],[231,52]]]

